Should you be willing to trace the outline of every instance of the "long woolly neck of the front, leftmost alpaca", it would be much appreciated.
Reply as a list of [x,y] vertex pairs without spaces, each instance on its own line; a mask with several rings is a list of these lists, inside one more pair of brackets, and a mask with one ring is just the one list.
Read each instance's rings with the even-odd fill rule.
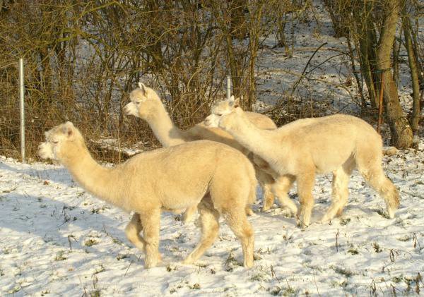
[[66,147],[66,157],[61,161],[89,193],[117,207],[124,206],[124,197],[117,195],[121,192],[117,189],[124,188],[124,175],[116,167],[107,168],[95,162],[85,144]]

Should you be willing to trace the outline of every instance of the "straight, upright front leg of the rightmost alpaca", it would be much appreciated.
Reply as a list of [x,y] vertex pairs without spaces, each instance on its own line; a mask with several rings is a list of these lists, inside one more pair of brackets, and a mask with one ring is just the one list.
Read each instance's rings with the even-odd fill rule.
[[298,210],[298,225],[304,229],[310,225],[312,208],[314,207],[312,190],[315,183],[315,174],[313,171],[310,171],[310,173],[296,176],[296,181],[298,183],[298,195],[300,202],[300,208]]

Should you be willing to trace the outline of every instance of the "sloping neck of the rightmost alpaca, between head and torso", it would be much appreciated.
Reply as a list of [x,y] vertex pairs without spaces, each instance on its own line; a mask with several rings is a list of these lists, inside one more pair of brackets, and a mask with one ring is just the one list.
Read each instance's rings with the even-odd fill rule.
[[237,109],[233,114],[229,115],[231,119],[231,126],[227,130],[232,137],[237,140],[240,145],[246,147],[249,151],[266,159],[269,150],[273,149],[272,139],[275,139],[274,131],[263,130],[254,126],[249,121],[245,111]]

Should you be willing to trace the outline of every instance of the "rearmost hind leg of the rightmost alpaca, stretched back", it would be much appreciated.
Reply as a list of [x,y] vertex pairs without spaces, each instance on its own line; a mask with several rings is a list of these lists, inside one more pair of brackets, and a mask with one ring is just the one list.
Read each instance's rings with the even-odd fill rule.
[[389,178],[384,175],[381,147],[376,147],[374,150],[372,148],[367,147],[357,152],[355,161],[365,181],[384,198],[387,214],[390,219],[393,219],[394,212],[399,208],[399,192]]

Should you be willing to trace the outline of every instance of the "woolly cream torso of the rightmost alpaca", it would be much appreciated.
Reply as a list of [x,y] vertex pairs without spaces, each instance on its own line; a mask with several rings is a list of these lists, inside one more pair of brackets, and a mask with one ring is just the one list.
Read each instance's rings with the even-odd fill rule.
[[367,147],[381,158],[382,140],[367,122],[355,116],[333,115],[295,121],[278,128],[286,150],[295,150],[298,161],[313,162],[318,172],[333,171]]

